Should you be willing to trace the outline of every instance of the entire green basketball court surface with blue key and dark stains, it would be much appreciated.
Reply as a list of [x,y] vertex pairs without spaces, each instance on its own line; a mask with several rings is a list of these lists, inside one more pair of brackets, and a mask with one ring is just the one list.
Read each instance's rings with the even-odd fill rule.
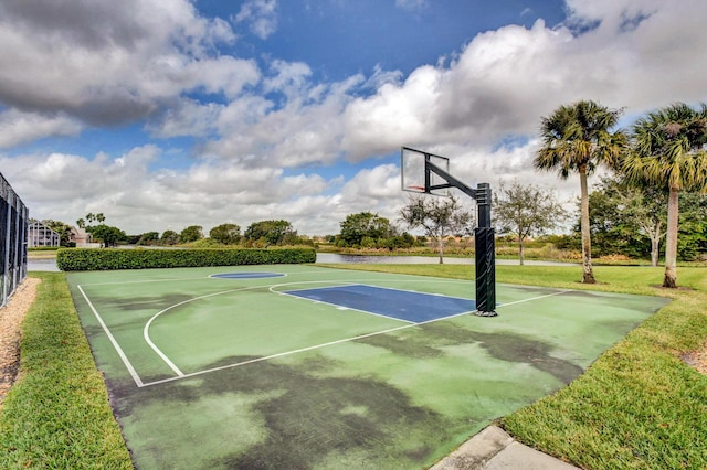
[[139,469],[429,467],[666,302],[499,285],[481,318],[473,281],[310,265],[67,278]]

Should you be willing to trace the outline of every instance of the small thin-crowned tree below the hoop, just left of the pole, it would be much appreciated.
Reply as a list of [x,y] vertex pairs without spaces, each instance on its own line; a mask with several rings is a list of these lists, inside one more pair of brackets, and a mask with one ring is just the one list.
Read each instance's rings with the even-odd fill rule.
[[422,227],[425,234],[437,242],[440,264],[444,263],[444,241],[453,234],[471,232],[474,222],[458,200],[451,197],[412,196],[399,212],[408,228]]

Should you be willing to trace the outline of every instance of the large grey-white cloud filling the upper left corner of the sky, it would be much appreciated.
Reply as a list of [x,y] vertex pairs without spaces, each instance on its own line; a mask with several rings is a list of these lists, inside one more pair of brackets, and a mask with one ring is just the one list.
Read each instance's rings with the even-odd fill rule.
[[0,102],[92,125],[144,118],[203,87],[233,96],[251,61],[210,57],[235,35],[187,0],[0,4]]

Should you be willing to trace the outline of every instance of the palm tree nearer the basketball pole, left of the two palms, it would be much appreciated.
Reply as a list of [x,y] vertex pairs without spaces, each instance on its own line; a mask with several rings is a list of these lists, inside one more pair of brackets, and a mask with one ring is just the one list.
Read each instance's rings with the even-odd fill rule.
[[597,167],[615,167],[625,149],[625,136],[611,129],[622,109],[609,109],[592,100],[560,106],[541,121],[542,147],[536,153],[537,170],[557,171],[562,179],[579,173],[581,194],[582,282],[594,284],[589,229],[587,177]]

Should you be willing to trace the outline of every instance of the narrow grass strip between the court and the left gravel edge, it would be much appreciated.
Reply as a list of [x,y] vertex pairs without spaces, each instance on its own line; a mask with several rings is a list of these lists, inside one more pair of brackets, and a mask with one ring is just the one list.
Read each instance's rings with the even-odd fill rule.
[[133,468],[64,274],[31,276],[42,284],[0,412],[0,468]]

